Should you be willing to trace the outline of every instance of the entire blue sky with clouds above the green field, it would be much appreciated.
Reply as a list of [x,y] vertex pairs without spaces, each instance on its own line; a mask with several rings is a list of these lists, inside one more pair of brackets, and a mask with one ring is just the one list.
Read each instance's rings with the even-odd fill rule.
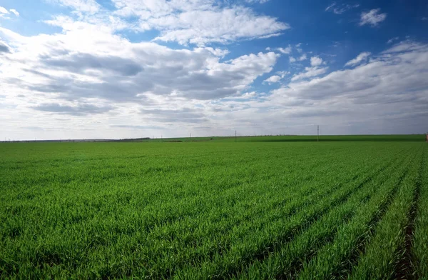
[[0,0],[0,140],[428,132],[428,2]]

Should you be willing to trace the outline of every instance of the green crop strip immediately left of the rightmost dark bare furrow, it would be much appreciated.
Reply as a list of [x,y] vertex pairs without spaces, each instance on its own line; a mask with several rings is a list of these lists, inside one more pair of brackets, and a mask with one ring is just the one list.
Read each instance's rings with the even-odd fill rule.
[[[419,153],[418,153],[419,154]],[[422,157],[423,159],[423,157]],[[418,194],[418,164],[411,164],[397,198],[379,221],[370,243],[352,271],[351,279],[402,279],[406,261],[406,232],[412,223],[412,209]],[[405,276],[405,275],[404,275]]]

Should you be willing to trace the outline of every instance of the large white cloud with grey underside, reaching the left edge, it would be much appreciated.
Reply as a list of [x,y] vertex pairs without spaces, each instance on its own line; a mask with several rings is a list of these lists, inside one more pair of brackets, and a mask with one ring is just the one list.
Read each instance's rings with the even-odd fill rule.
[[200,100],[235,96],[272,71],[279,56],[260,52],[220,62],[225,52],[218,49],[131,43],[102,29],[31,37],[0,28],[1,33],[16,46],[9,54],[14,63],[0,66],[2,83],[74,101],[148,103],[160,95]]

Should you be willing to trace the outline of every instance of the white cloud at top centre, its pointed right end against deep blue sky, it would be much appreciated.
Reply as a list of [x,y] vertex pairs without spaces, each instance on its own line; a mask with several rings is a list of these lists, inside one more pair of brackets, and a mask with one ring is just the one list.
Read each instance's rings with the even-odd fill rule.
[[239,39],[278,36],[288,24],[270,16],[260,16],[244,6],[215,5],[210,0],[134,1],[113,0],[118,16],[138,17],[138,31],[157,29],[159,41],[204,45],[229,43]]

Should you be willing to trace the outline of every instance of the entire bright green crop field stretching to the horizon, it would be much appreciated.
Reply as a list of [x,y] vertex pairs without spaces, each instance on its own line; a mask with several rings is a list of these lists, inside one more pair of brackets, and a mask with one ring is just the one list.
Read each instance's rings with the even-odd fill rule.
[[0,279],[427,279],[424,136],[323,137],[2,143]]

